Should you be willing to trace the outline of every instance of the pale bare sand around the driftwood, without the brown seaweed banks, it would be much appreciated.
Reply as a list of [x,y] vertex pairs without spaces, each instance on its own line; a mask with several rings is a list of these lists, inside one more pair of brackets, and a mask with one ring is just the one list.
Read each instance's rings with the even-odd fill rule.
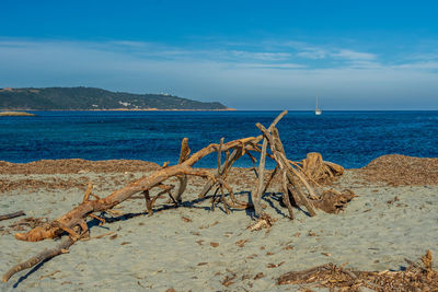
[[[83,174],[57,176],[74,178]],[[97,180],[99,175],[87,176]],[[113,176],[116,174],[105,175],[108,184],[100,187],[96,195],[106,196],[117,188],[110,183]],[[21,179],[23,175],[15,177]],[[91,236],[114,233],[79,242],[69,254],[45,262],[32,273],[25,270],[13,276],[8,283],[0,284],[0,290],[295,291],[298,287],[276,285],[276,279],[290,270],[330,261],[348,262],[347,267],[360,270],[397,270],[407,266],[404,258],[416,260],[426,249],[437,255],[438,186],[395,188],[354,182],[350,173],[339,182],[359,197],[337,215],[318,211],[316,217],[309,218],[296,210],[297,219],[290,221],[286,208],[279,207],[275,196],[266,198],[267,213],[278,219],[268,233],[246,229],[252,223],[247,211],[234,211],[229,215],[219,209],[209,211],[209,200],[164,210],[151,218],[141,214],[95,225],[91,227]],[[198,186],[188,187],[185,199],[195,199],[199,190]],[[235,186],[237,192],[242,190],[249,189]],[[24,210],[28,217],[56,219],[77,206],[82,196],[83,190],[76,188],[14,190],[0,195],[0,214]],[[399,201],[387,203],[395,196]],[[244,198],[247,197],[241,195],[240,199]],[[164,199],[159,200],[157,207],[164,202]],[[129,200],[116,209],[125,213],[141,212],[145,201]],[[182,217],[192,221],[186,222]],[[19,220],[0,221],[0,227]],[[117,237],[112,240],[114,234]],[[243,247],[235,244],[239,241],[246,241]],[[219,245],[214,247],[210,243]],[[20,242],[13,233],[0,236],[0,273],[56,244],[53,241]],[[267,267],[280,262],[284,264],[279,267]],[[254,280],[260,272],[264,277]],[[233,283],[222,285],[226,277],[233,275]]]

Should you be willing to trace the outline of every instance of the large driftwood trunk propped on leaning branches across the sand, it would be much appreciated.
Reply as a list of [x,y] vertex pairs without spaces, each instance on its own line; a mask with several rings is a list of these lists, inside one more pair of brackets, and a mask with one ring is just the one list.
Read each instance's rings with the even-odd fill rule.
[[[105,223],[103,219],[94,213],[112,212],[114,207],[126,199],[131,198],[135,194],[141,192],[145,197],[146,208],[149,215],[152,215],[155,200],[163,194],[168,194],[174,205],[178,206],[178,203],[183,201],[183,194],[187,186],[187,176],[199,176],[207,179],[207,184],[200,194],[200,197],[205,197],[206,194],[216,186],[216,190],[211,196],[211,209],[214,209],[219,202],[222,203],[223,210],[227,213],[229,213],[231,209],[246,209],[254,207],[256,217],[260,218],[260,221],[264,221],[264,223],[260,224],[261,227],[270,226],[273,223],[270,217],[264,213],[261,199],[268,185],[273,184],[273,178],[278,172],[281,174],[284,202],[288,207],[290,219],[293,219],[292,207],[298,205],[303,205],[308,210],[308,214],[311,217],[316,214],[314,208],[336,213],[345,206],[348,199],[339,192],[331,192],[332,195],[330,196],[324,195],[324,192],[322,196],[318,195],[312,187],[312,185],[314,185],[313,180],[308,177],[308,174],[302,171],[298,163],[291,162],[287,159],[278,130],[275,127],[286,114],[286,110],[283,112],[267,129],[263,125],[257,124],[257,128],[261,129],[263,133],[261,136],[242,138],[227,143],[223,142],[222,138],[219,144],[211,143],[192,155],[188,141],[185,138],[182,141],[180,160],[176,165],[169,166],[169,163],[165,163],[160,170],[149,176],[137,179],[127,186],[115,190],[105,198],[100,198],[94,195],[92,192],[93,186],[89,185],[83,200],[78,207],[50,223],[36,226],[27,233],[15,234],[18,240],[27,242],[60,237],[64,234],[68,234],[68,237],[57,248],[45,250],[36,257],[10,269],[3,276],[3,281],[8,281],[18,271],[31,268],[42,260],[46,260],[67,252],[67,249],[79,240],[89,240],[90,232],[87,219],[93,218],[100,220],[102,224]],[[262,145],[260,145],[258,143],[262,140]],[[270,153],[267,152],[268,149],[270,150]],[[218,167],[216,172],[193,167],[196,162],[215,152],[217,152],[218,155]],[[258,179],[255,190],[252,194],[252,202],[242,202],[234,197],[233,189],[226,179],[229,170],[241,156],[249,154],[250,157],[255,161],[254,155],[250,152],[261,153],[257,172]],[[224,163],[222,163],[223,153],[226,154]],[[265,183],[264,165],[266,157],[273,159],[277,163],[277,166]],[[176,177],[180,183],[180,186],[175,188],[176,194],[172,194],[174,186],[165,184],[165,180],[172,177]],[[150,191],[153,188],[159,188],[160,192],[152,197]]]

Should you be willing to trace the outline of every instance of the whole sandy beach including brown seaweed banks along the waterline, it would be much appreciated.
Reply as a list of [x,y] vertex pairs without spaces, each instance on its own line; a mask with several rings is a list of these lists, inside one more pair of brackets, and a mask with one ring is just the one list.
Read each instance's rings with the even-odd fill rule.
[[[280,186],[274,184],[263,203],[277,221],[269,230],[253,232],[247,229],[254,223],[252,210],[211,211],[208,198],[198,199],[205,180],[189,178],[182,207],[159,199],[148,217],[145,199],[135,196],[117,206],[115,214],[106,214],[102,226],[90,221],[91,240],[19,272],[0,290],[296,291],[302,287],[277,285],[277,278],[326,262],[400,270],[407,266],[405,258],[438,252],[437,165],[435,159],[388,155],[361,170],[347,170],[330,186],[358,196],[345,211],[318,211],[310,218],[297,210],[293,221],[279,203]],[[0,214],[26,213],[0,221],[0,273],[57,244],[15,240],[15,232],[30,230],[26,218],[51,221],[82,201],[89,182],[96,195],[106,197],[158,168],[141,161],[0,162]],[[253,171],[233,168],[229,177],[239,199],[249,201]]]

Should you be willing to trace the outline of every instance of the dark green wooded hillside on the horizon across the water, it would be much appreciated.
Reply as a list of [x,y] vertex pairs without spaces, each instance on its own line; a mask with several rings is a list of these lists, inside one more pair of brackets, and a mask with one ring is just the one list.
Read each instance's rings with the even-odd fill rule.
[[1,89],[0,109],[227,109],[166,94],[131,94],[94,87]]

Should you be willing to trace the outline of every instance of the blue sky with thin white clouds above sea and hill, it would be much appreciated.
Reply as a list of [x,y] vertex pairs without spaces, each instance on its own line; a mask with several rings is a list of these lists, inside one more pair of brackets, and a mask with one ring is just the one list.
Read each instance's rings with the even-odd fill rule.
[[0,13],[0,87],[438,109],[436,1],[1,0]]

